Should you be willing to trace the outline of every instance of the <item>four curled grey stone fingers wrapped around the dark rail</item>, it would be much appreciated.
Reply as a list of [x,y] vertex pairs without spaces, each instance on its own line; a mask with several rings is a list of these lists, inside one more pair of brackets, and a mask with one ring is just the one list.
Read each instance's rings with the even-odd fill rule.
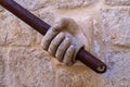
[[70,34],[60,33],[56,29],[51,27],[46,34],[41,42],[42,48],[60,62],[73,65],[78,51],[82,48],[82,44],[78,42]]

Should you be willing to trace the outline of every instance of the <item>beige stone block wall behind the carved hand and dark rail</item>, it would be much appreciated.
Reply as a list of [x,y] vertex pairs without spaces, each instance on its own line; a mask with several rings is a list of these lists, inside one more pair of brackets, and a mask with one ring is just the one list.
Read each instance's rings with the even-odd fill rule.
[[[108,70],[58,63],[42,35],[0,7],[0,87],[130,87],[130,0],[15,0],[50,25],[73,17]],[[86,28],[84,28],[86,27]]]

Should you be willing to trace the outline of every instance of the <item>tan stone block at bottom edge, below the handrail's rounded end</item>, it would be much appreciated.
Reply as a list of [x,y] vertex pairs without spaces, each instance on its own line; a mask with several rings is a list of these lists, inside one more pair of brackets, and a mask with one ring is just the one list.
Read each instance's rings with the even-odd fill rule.
[[60,67],[56,71],[56,87],[103,87],[100,75],[86,66]]

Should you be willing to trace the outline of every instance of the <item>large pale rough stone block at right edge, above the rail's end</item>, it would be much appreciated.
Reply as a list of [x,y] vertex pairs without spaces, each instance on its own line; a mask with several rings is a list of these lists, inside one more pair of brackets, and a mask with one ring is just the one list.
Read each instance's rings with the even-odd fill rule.
[[103,40],[106,44],[130,47],[130,9],[101,10]]

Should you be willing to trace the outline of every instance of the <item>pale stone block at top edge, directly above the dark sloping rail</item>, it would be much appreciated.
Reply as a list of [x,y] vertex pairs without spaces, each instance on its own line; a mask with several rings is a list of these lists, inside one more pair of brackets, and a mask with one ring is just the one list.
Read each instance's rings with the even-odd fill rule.
[[49,5],[50,0],[14,0],[28,10],[37,10]]

